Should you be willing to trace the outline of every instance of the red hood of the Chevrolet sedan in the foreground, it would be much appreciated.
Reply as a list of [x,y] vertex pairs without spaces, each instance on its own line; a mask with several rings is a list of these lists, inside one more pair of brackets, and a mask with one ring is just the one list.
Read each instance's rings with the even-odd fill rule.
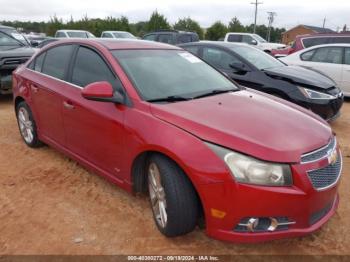
[[248,90],[152,104],[151,111],[202,140],[272,162],[300,162],[303,153],[332,136],[329,125],[311,112]]

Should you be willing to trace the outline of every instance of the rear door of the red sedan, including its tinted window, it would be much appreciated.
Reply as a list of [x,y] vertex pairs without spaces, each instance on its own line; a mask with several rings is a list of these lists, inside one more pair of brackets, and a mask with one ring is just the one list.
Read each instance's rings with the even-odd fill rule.
[[39,133],[61,146],[65,144],[62,92],[67,85],[64,80],[73,50],[73,45],[60,45],[38,56],[29,81]]

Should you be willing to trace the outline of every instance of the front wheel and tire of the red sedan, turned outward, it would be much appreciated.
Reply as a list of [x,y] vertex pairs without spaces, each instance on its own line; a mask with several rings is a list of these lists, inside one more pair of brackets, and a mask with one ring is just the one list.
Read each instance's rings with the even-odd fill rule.
[[146,172],[153,218],[159,231],[167,237],[193,231],[198,221],[199,202],[185,173],[162,155],[149,159]]

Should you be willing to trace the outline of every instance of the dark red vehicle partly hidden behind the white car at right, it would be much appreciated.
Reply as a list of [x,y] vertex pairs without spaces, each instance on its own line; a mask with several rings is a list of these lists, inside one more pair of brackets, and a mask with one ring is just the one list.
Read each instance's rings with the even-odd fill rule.
[[334,33],[299,35],[291,46],[287,46],[283,49],[274,49],[271,51],[271,54],[275,57],[283,57],[315,45],[342,43],[350,44],[350,34]]

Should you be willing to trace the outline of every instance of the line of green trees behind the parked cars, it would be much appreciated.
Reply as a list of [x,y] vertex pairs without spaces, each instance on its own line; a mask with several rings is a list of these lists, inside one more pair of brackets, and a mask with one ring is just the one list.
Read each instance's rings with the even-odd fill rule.
[[[87,30],[96,36],[100,36],[103,31],[116,30],[128,31],[135,36],[142,37],[144,34],[159,29],[175,29],[184,31],[196,32],[200,39],[219,40],[223,38],[227,32],[253,32],[253,24],[244,26],[237,17],[231,19],[228,24],[217,21],[209,28],[201,28],[199,23],[190,17],[180,18],[171,25],[167,18],[154,11],[148,21],[140,21],[137,23],[130,23],[125,16],[115,18],[108,16],[105,19],[88,18],[87,15],[79,20],[74,20],[73,17],[68,21],[63,21],[56,15],[50,17],[48,22],[32,22],[32,21],[0,21],[0,24],[21,28],[24,32],[40,32],[48,36],[54,36],[59,29],[76,29]],[[256,32],[260,36],[266,38],[268,28],[265,25],[257,25]],[[281,33],[285,32],[284,28],[271,28],[271,41],[278,42],[281,39]]]

